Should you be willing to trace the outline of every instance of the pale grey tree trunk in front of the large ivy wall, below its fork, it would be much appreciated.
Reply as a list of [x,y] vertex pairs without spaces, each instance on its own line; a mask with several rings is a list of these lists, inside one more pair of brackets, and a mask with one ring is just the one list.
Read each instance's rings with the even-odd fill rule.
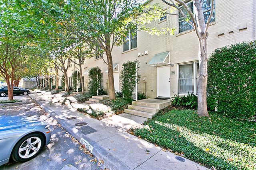
[[206,37],[201,39],[200,49],[199,49],[199,77],[198,77],[198,110],[197,113],[199,116],[207,116],[207,97],[206,97],[206,88],[207,88],[207,40],[208,34]]

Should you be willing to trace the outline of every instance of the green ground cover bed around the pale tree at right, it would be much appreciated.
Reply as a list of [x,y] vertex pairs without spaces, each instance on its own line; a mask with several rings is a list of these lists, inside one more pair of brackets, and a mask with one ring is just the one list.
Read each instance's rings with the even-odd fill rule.
[[198,117],[193,110],[171,110],[132,132],[208,168],[255,169],[256,122],[216,113],[210,116]]

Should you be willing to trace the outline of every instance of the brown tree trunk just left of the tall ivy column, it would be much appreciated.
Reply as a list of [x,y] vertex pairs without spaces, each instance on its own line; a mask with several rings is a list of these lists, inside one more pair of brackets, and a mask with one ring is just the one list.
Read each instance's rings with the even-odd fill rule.
[[114,71],[113,71],[113,61],[112,61],[112,55],[111,52],[107,52],[107,59],[108,59],[108,94],[109,99],[114,100],[116,99],[115,94],[115,86],[114,86]]

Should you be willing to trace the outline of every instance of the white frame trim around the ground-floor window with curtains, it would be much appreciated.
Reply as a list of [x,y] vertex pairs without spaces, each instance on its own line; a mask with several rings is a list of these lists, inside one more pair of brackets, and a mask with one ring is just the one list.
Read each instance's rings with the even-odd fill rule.
[[[181,64],[177,64],[177,92],[178,94],[182,94],[182,95],[187,95],[188,93],[182,93],[180,92],[180,86],[179,86],[179,75],[180,75],[180,72],[179,72],[179,68],[181,65],[186,65],[186,64],[193,64],[193,72],[194,72],[194,92],[193,94],[197,96],[197,89],[196,89],[196,77],[197,77],[197,72],[196,72],[196,64],[199,63],[198,61],[193,61],[193,62],[188,62],[188,63],[181,63]],[[184,78],[182,78],[184,79]],[[191,78],[188,78],[188,79],[191,79]]]

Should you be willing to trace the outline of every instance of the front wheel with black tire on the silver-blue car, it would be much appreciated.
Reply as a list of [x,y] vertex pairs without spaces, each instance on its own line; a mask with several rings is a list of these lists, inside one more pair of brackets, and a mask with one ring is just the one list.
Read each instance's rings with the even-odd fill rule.
[[26,162],[33,159],[44,147],[45,139],[40,133],[31,133],[20,139],[12,152],[16,162]]

